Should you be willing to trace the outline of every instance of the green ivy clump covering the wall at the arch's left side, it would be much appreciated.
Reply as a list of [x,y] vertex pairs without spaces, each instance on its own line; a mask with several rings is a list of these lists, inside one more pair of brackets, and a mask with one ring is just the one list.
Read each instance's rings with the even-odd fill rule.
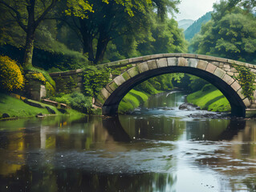
[[87,66],[83,72],[84,94],[96,98],[100,90],[109,82],[110,69]]

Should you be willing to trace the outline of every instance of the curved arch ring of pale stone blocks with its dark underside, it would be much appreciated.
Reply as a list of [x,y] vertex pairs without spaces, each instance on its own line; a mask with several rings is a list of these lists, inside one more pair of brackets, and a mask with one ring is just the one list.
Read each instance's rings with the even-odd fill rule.
[[120,101],[134,86],[148,78],[168,73],[187,73],[205,79],[226,96],[232,114],[246,115],[246,106],[250,106],[250,103],[241,94],[239,83],[217,65],[197,58],[156,58],[133,66],[101,90],[96,104],[102,106],[103,114],[116,114]]

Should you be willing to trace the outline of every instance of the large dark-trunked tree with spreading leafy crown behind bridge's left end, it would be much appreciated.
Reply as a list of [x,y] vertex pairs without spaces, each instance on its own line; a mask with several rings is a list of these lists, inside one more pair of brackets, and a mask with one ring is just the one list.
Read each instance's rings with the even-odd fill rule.
[[[75,0],[79,1],[79,0]],[[93,4],[92,11],[81,11],[77,6],[70,6],[63,18],[79,35],[83,44],[83,53],[88,53],[89,60],[99,63],[104,59],[108,43],[123,35],[146,33],[150,25],[148,14],[157,10],[161,18],[169,10],[177,10],[179,1],[169,0],[128,0],[128,1],[79,1]],[[73,4],[75,5],[75,4]],[[83,4],[86,5],[86,4]],[[96,43],[96,45],[94,44]]]

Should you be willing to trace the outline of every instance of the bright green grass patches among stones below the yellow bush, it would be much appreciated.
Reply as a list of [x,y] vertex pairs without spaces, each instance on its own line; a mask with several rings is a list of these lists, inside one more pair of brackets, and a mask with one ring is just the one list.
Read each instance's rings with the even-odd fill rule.
[[[35,102],[35,101],[33,101]],[[9,114],[10,118],[25,118],[25,117],[35,117],[35,115],[42,113],[42,114],[51,114],[45,106],[50,107],[52,110],[55,111],[56,114],[62,114],[57,110],[55,106],[50,106],[44,104],[42,102],[37,102],[43,108],[38,108],[35,106],[30,106],[23,102],[21,99],[11,97],[7,94],[0,94],[0,118],[2,118],[2,114]],[[67,109],[68,114],[80,114],[76,110]]]

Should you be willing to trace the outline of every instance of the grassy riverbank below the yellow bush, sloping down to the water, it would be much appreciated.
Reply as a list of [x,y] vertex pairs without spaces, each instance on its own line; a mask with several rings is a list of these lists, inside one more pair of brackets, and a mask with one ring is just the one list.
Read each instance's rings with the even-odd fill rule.
[[8,94],[0,94],[0,119],[29,118],[37,115],[81,114],[79,111],[69,108],[63,110],[55,106],[47,105],[43,102],[36,102],[33,100],[29,101],[39,104],[39,106],[42,107],[30,106],[20,98],[14,98],[14,96],[10,96]]

